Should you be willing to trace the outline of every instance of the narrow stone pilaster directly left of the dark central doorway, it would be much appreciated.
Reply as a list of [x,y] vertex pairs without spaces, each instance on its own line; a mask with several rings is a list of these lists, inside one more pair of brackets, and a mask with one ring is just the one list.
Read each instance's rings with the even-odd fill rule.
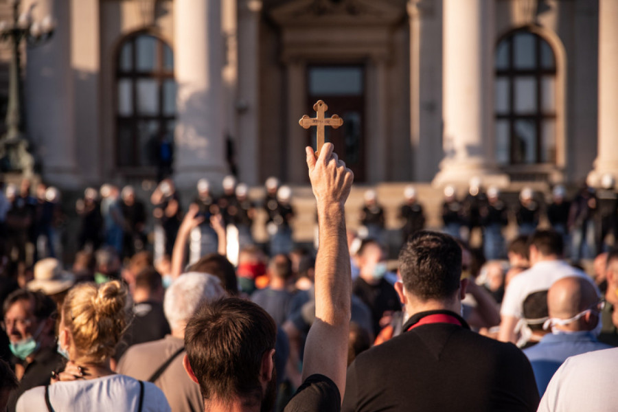
[[288,134],[287,145],[287,176],[288,183],[307,182],[307,163],[305,150],[307,131],[298,124],[302,115],[312,115],[311,108],[306,104],[305,64],[299,60],[288,62]]

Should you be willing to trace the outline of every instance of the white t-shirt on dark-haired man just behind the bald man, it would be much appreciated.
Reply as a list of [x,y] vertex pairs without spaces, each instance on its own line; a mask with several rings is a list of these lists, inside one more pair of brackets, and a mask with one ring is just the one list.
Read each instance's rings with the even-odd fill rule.
[[574,268],[564,260],[542,260],[527,271],[514,277],[504,293],[500,308],[502,316],[523,317],[523,301],[528,295],[541,290],[549,290],[553,282],[562,277],[580,276],[593,283],[586,273]]

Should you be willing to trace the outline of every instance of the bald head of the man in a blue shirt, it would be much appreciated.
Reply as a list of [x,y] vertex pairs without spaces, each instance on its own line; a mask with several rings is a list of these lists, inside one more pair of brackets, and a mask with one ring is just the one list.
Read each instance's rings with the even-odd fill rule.
[[[597,290],[583,277],[563,277],[547,293],[549,317],[569,319],[599,300]],[[575,323],[575,322],[573,322]]]

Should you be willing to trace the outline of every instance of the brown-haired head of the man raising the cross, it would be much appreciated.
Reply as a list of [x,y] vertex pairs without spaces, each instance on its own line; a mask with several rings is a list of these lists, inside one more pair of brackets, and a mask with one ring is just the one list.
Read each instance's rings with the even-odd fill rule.
[[205,402],[271,411],[276,333],[273,318],[251,301],[232,297],[203,305],[185,328],[184,364]]

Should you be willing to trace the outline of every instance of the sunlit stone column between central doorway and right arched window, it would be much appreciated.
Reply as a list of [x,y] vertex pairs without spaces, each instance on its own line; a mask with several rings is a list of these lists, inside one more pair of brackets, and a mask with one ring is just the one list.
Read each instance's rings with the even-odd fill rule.
[[507,185],[494,161],[494,0],[444,0],[444,159],[433,185]]

